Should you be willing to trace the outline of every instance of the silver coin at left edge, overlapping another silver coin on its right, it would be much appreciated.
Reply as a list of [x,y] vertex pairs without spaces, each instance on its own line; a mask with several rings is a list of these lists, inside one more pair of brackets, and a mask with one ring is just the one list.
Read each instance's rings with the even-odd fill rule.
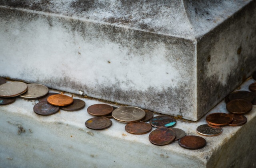
[[0,85],[0,97],[16,97],[25,93],[28,86],[24,82],[10,82]]

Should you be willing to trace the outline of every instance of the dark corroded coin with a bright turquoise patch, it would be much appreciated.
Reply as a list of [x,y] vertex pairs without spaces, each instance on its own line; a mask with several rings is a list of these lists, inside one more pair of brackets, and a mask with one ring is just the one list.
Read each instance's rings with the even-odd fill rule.
[[172,127],[176,124],[176,119],[170,116],[160,115],[153,117],[150,120],[150,124],[155,128]]

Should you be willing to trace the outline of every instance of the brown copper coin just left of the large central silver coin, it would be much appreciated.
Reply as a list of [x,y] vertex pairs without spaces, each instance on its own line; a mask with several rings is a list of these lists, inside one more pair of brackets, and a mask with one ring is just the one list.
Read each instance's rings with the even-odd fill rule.
[[113,107],[106,104],[95,104],[87,108],[87,112],[94,116],[106,116],[110,115],[113,111]]

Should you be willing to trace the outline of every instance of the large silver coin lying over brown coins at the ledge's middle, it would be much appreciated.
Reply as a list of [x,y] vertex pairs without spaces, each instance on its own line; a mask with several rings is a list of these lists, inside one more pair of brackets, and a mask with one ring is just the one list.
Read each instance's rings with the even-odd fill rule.
[[144,110],[138,107],[119,107],[112,112],[112,117],[121,123],[135,123],[145,117]]

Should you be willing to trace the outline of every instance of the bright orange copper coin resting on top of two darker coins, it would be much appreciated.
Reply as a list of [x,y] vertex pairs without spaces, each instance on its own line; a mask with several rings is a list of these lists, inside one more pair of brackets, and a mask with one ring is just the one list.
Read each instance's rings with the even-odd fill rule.
[[73,103],[73,98],[66,95],[51,95],[47,102],[54,106],[68,106]]

